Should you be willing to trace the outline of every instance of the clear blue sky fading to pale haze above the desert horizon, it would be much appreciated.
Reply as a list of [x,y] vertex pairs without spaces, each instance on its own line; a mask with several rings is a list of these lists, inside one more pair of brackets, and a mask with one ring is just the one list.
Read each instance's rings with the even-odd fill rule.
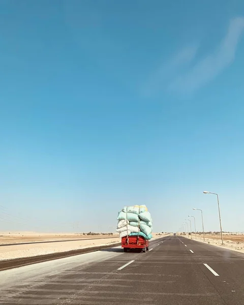
[[[1,1],[0,230],[244,231],[244,2]],[[76,230],[77,231],[77,230]]]

